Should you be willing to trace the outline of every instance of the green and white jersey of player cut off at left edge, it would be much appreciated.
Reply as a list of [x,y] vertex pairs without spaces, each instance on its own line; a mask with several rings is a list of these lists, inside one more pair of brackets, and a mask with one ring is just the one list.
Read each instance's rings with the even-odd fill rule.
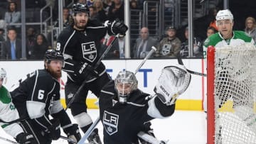
[[[11,95],[9,91],[2,86],[0,88],[0,120],[4,122],[15,121],[19,118],[18,111],[11,102]],[[0,122],[2,128],[6,133],[16,138],[16,135],[23,133],[21,126],[18,123],[3,123]]]

